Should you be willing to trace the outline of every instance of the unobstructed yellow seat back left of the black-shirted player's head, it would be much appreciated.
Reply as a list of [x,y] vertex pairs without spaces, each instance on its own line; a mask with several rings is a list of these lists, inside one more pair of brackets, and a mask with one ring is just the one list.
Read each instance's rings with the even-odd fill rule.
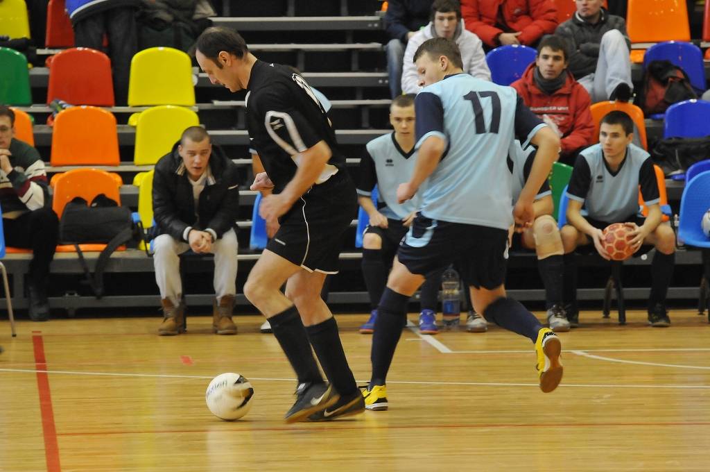
[[173,48],[148,48],[133,56],[129,106],[195,104],[190,56]]

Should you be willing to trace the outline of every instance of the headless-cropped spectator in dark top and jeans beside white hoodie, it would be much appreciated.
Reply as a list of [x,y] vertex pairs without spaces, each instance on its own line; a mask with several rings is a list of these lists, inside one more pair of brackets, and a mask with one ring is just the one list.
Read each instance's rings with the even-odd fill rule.
[[432,0],[390,0],[385,14],[387,71],[391,98],[402,94],[402,64],[407,42],[429,21]]

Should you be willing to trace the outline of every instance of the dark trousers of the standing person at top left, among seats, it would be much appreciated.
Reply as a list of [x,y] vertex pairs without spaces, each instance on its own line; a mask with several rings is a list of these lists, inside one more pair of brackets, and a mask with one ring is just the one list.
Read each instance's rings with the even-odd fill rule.
[[136,10],[131,7],[101,11],[74,25],[77,48],[102,50],[107,34],[117,105],[125,105],[128,100],[131,59],[138,52],[137,31]]

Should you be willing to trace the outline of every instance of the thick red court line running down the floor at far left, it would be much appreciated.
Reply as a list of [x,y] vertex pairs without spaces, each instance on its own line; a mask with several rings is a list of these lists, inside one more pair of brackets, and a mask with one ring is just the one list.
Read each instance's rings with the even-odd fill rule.
[[59,463],[59,444],[57,442],[57,429],[54,424],[54,411],[52,409],[52,395],[49,388],[49,375],[47,360],[44,353],[44,342],[41,331],[32,332],[32,344],[35,350],[35,369],[37,370],[37,389],[40,394],[40,412],[42,414],[42,432],[45,440],[45,458],[48,472],[61,472]]

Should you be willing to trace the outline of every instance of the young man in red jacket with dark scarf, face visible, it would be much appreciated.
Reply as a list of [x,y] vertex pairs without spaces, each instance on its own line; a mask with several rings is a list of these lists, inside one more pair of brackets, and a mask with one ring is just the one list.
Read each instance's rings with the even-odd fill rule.
[[510,87],[523,102],[559,134],[559,161],[574,165],[577,153],[594,144],[591,97],[567,71],[567,42],[560,36],[545,36],[537,48],[535,63]]

